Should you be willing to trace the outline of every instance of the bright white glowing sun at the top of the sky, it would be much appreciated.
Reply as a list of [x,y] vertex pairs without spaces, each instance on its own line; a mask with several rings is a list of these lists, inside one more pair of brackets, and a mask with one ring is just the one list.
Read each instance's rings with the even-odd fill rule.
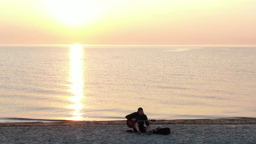
[[99,13],[93,0],[47,0],[46,5],[56,19],[69,26],[89,23]]

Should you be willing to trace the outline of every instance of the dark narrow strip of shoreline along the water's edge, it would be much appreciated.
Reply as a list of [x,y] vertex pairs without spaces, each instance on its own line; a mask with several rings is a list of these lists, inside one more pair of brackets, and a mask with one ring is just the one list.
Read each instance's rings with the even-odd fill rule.
[[[78,125],[78,124],[110,124],[110,125],[122,125],[126,124],[126,120],[116,121],[72,121],[72,120],[60,120],[60,121],[37,121],[37,122],[0,122],[0,127],[10,126],[33,126],[33,125]],[[256,118],[220,118],[220,119],[174,119],[174,120],[156,120],[150,124],[256,124]]]

